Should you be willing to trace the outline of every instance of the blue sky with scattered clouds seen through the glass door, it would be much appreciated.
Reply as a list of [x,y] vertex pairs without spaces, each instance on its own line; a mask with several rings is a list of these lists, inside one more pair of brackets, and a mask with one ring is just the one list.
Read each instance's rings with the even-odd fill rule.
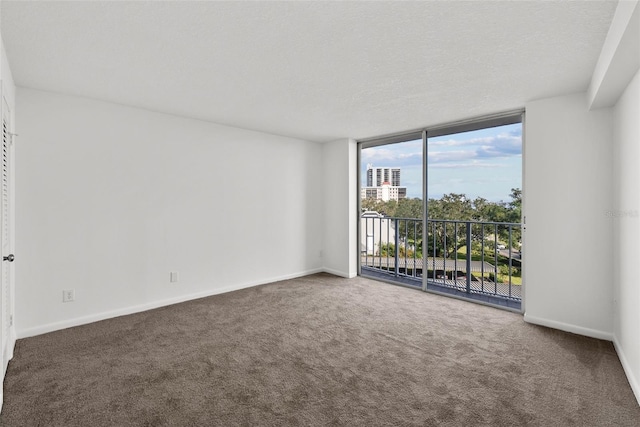
[[[428,138],[428,197],[460,193],[492,202],[509,201],[522,189],[522,125],[499,126]],[[366,148],[361,154],[361,182],[367,164],[399,167],[407,197],[422,198],[422,140]]]

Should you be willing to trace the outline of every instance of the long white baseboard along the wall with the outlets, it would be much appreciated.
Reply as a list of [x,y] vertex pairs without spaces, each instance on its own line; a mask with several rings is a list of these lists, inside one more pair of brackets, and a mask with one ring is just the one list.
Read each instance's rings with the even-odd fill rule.
[[61,329],[72,328],[74,326],[80,326],[80,325],[86,325],[88,323],[99,322],[100,320],[111,319],[119,316],[126,316],[128,314],[140,313],[142,311],[153,310],[154,308],[160,308],[167,305],[178,304],[181,302],[191,301],[198,298],[205,298],[212,295],[218,295],[226,292],[237,291],[240,289],[251,288],[254,286],[265,285],[267,283],[279,282],[281,280],[295,279],[297,277],[308,276],[310,274],[315,274],[315,273],[322,273],[324,271],[325,270],[323,268],[316,268],[312,270],[301,271],[298,273],[286,274],[278,277],[271,277],[271,278],[263,279],[259,281],[237,283],[235,285],[216,288],[216,289],[212,289],[204,292],[180,295],[174,298],[169,298],[169,299],[159,300],[159,301],[152,301],[146,304],[124,307],[117,310],[91,314],[89,316],[76,317],[73,319],[63,320],[60,322],[47,323],[45,325],[39,325],[33,328],[20,330],[18,331],[17,336],[18,338],[28,338],[36,335],[46,334],[48,332],[58,331]]

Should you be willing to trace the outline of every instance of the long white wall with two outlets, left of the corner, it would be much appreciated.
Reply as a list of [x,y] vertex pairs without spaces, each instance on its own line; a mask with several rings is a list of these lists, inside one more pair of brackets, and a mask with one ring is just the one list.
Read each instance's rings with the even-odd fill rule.
[[320,144],[30,89],[17,101],[20,337],[322,269]]

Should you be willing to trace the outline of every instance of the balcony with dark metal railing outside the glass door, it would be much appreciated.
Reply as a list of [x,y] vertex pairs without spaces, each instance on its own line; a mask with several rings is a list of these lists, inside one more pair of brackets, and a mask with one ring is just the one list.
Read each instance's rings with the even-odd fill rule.
[[522,225],[365,212],[360,267],[364,276],[520,310]]

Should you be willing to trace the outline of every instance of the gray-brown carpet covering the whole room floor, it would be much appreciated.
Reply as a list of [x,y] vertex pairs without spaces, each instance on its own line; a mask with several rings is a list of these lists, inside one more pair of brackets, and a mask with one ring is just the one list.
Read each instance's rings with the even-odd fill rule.
[[638,426],[611,343],[318,274],[17,342],[3,426]]

